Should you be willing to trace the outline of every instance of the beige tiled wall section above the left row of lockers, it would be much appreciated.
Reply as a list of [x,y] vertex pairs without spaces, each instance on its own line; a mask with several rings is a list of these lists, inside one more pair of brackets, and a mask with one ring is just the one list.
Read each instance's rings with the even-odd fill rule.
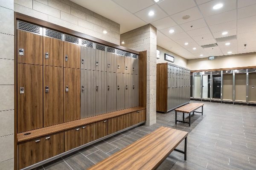
[[118,23],[70,0],[14,0],[14,11],[120,44]]

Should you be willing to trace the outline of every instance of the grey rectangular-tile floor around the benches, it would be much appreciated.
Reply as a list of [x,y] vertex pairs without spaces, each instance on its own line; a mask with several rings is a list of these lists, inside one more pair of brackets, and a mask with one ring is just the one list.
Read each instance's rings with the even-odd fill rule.
[[[85,170],[161,126],[189,132],[188,150],[186,161],[183,154],[173,151],[157,170],[256,170],[256,107],[204,104],[204,115],[192,115],[190,127],[175,125],[174,111],[157,113],[154,125],[135,127],[35,170]],[[177,148],[183,150],[184,142]]]

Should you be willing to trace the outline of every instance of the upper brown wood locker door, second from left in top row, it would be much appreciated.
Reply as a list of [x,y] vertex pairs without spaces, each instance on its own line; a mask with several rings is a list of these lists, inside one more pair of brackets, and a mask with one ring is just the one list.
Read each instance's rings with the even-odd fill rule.
[[44,37],[43,64],[63,67],[63,41]]

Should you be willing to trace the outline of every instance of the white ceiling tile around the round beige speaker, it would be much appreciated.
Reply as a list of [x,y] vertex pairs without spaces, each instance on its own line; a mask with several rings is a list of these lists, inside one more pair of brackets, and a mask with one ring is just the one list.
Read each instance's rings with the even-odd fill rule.
[[[183,20],[182,17],[185,16],[185,15],[189,15],[190,18],[187,19],[187,20]],[[190,22],[190,21],[193,21],[193,20],[201,19],[202,15],[199,12],[197,7],[193,7],[193,8],[187,9],[186,11],[182,11],[182,12],[179,12],[177,14],[174,14],[171,17],[176,23],[183,24],[183,23],[187,23],[187,22]]]

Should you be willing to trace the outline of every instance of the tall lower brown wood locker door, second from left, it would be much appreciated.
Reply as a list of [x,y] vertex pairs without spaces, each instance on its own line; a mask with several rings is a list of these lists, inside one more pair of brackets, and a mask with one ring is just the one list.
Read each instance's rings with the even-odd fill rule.
[[43,68],[44,127],[47,127],[64,122],[63,68],[52,66],[44,66]]

